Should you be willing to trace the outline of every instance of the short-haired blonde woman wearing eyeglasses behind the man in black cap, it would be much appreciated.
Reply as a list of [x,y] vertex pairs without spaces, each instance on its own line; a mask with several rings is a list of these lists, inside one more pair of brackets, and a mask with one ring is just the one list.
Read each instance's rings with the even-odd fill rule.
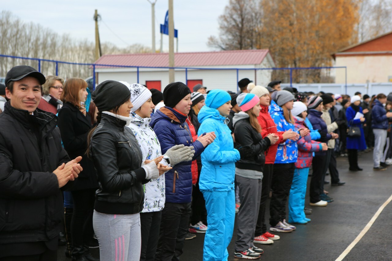
[[41,96],[38,109],[46,112],[57,114],[63,106],[60,100],[61,94],[64,90],[64,79],[59,76],[47,76],[46,82],[42,85],[43,95]]

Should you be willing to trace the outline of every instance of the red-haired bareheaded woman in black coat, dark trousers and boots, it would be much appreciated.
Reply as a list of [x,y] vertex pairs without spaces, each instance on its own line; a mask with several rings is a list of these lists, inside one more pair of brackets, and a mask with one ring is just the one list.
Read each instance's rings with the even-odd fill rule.
[[87,156],[87,135],[91,128],[90,115],[86,113],[87,82],[71,78],[65,82],[61,100],[64,106],[58,113],[58,127],[64,149],[70,156],[82,156],[83,166],[79,178],[69,189],[73,198],[73,216],[71,219],[71,256],[74,260],[94,260],[89,254],[89,241],[93,238],[93,211],[95,191],[98,181],[93,162]]

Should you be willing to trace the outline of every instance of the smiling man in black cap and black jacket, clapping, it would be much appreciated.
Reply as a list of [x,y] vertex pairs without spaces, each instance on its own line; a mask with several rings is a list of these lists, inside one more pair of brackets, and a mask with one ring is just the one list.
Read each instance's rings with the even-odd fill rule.
[[57,117],[37,109],[45,77],[13,67],[5,77],[0,114],[0,260],[56,260],[64,213],[60,188],[78,177],[82,157],[69,161]]

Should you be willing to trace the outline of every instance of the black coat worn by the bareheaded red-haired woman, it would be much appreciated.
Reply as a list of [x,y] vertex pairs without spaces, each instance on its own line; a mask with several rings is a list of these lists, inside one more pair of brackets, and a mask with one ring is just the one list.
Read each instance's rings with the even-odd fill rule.
[[87,135],[92,127],[90,115],[86,114],[84,116],[71,103],[64,103],[58,112],[58,128],[60,129],[64,149],[71,159],[82,156],[79,163],[83,167],[83,171],[80,172],[70,190],[98,188],[93,161],[85,155]]

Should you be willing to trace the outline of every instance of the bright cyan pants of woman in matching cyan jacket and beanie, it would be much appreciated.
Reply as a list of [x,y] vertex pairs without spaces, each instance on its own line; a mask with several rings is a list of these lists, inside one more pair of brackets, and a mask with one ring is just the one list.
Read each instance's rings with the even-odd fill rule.
[[207,208],[208,228],[204,237],[203,261],[227,261],[234,230],[236,202],[230,191],[201,190]]

